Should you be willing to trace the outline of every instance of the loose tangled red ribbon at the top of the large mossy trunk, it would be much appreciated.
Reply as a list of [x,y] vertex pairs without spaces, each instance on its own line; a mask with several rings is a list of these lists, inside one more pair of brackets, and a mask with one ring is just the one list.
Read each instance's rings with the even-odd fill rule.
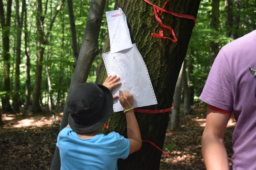
[[[176,13],[176,12],[171,12],[171,11],[166,11],[164,10],[164,7],[165,5],[167,4],[167,2],[169,0],[167,0],[165,3],[164,3],[164,6],[163,8],[159,8],[158,6],[156,5],[153,5],[151,4],[148,0],[143,0],[145,1],[146,3],[152,5],[154,7],[154,13],[155,13],[155,17],[156,17],[156,21],[159,23],[160,26],[164,27],[164,28],[167,28],[171,33],[172,33],[172,36],[173,36],[173,39],[169,38],[169,37],[164,37],[164,30],[161,29],[159,30],[159,34],[158,33],[151,33],[152,37],[157,37],[157,38],[169,38],[170,40],[172,40],[173,42],[176,42],[177,41],[177,38],[174,34],[174,31],[172,29],[172,27],[170,26],[166,26],[163,24],[162,20],[158,17],[158,15],[160,16],[163,12],[165,13],[168,13],[168,14],[172,14],[176,17],[181,17],[181,18],[188,18],[188,19],[193,19],[194,20],[194,23],[196,24],[196,18],[193,17],[192,15],[187,15],[187,14],[179,14],[179,13]],[[161,11],[161,12],[159,12]]]

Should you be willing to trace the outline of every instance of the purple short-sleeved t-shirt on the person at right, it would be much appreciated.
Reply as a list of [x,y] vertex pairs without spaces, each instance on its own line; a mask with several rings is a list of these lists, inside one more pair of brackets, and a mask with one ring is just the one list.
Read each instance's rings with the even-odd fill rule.
[[233,111],[233,170],[256,169],[256,30],[231,41],[216,57],[200,100]]

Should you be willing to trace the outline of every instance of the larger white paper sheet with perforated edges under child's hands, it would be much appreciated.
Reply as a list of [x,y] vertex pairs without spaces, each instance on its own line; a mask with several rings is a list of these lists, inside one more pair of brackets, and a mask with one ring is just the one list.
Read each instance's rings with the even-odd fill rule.
[[[119,96],[119,89],[128,90],[133,94],[134,108],[157,104],[148,69],[135,44],[117,53],[103,53],[102,58],[108,76],[116,74],[122,82],[122,85],[112,89],[113,95]],[[124,110],[119,99],[114,100],[113,109],[114,112]]]

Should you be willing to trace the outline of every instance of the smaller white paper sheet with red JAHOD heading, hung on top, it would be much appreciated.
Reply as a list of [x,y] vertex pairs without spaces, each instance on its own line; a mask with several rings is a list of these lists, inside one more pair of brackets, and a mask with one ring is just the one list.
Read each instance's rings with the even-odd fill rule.
[[126,17],[121,8],[107,11],[108,33],[111,53],[116,53],[132,47],[132,41],[127,26]]

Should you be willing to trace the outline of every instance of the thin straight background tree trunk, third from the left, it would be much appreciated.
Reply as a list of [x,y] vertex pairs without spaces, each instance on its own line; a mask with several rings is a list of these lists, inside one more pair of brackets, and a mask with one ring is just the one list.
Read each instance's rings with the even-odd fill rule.
[[28,42],[28,17],[27,17],[27,8],[25,8],[24,16],[24,39],[25,39],[25,69],[26,69],[26,87],[25,87],[25,96],[26,96],[26,108],[30,106],[30,95],[31,95],[31,86],[30,86],[30,53],[29,53],[29,42]]

